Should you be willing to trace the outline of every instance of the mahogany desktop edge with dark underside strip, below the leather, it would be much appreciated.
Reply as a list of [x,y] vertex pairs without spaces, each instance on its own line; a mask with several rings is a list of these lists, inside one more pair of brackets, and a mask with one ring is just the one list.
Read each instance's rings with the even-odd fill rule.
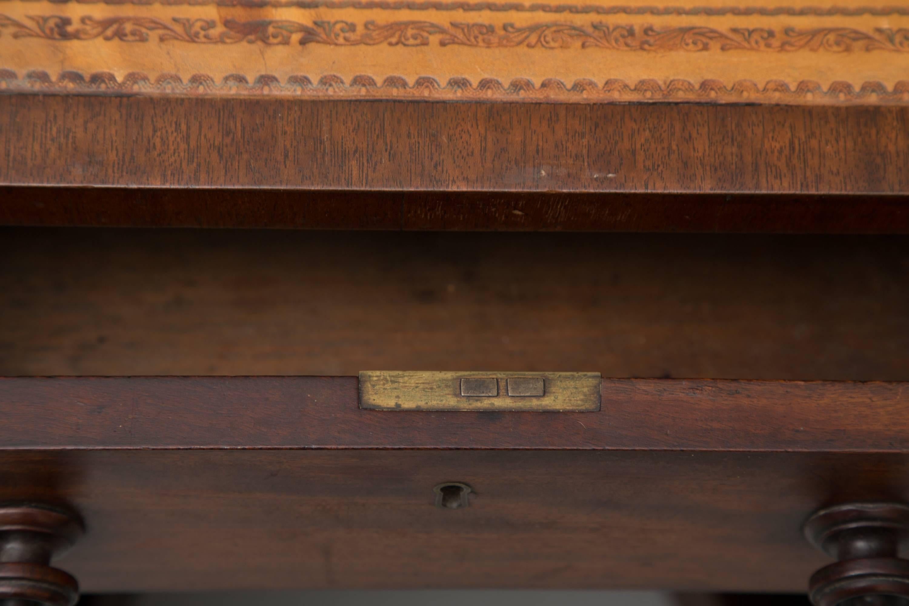
[[0,224],[909,232],[899,106],[7,94],[0,116]]

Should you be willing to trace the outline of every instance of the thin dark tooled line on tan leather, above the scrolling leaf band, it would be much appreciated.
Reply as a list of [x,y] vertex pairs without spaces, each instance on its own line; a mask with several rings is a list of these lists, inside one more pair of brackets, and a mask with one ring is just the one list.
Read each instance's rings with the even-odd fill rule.
[[[42,2],[43,0],[0,0]],[[245,7],[357,8],[379,10],[492,11],[521,13],[569,13],[577,15],[763,15],[763,16],[890,16],[909,15],[909,6],[629,6],[548,5],[520,2],[467,2],[464,0],[51,0],[55,4],[79,5],[217,5]]]

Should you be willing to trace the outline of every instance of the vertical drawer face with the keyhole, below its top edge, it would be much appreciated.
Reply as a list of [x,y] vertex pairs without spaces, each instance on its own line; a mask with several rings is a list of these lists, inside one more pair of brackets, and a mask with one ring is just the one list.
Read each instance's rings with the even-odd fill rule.
[[[58,562],[85,591],[804,591],[828,562],[804,519],[907,478],[897,454],[0,452],[4,499],[85,516]],[[474,500],[435,508],[439,482]]]

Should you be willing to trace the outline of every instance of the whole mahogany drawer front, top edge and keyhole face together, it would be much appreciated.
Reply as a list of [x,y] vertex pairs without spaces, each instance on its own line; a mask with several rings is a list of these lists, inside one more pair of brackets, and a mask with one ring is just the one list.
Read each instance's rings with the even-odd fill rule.
[[804,591],[815,510],[906,497],[907,399],[604,380],[598,412],[383,411],[355,377],[10,378],[0,487],[79,515],[55,565],[84,591]]

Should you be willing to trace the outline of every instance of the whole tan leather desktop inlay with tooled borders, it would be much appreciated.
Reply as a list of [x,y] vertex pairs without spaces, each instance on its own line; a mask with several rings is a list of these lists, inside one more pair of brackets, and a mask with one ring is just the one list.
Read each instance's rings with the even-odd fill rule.
[[909,102],[909,7],[0,0],[0,90]]

